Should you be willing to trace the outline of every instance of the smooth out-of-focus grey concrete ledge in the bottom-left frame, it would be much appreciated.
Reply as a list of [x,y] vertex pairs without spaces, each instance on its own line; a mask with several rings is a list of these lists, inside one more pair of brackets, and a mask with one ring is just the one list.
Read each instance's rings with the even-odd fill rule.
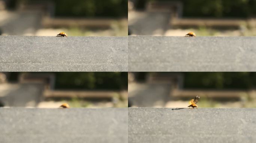
[[128,143],[127,108],[0,108],[1,143]]

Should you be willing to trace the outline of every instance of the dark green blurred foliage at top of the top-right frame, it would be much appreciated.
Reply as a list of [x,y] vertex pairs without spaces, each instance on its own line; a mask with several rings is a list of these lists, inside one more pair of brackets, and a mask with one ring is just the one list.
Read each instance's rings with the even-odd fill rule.
[[[146,0],[138,0],[144,1]],[[148,0],[181,1],[185,17],[240,17],[256,15],[256,0]]]

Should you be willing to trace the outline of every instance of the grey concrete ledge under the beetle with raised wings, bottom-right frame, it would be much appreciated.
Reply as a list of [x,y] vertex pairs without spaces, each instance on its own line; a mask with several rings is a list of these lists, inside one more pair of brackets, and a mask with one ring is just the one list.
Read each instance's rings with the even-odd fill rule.
[[129,143],[253,143],[256,108],[129,108]]

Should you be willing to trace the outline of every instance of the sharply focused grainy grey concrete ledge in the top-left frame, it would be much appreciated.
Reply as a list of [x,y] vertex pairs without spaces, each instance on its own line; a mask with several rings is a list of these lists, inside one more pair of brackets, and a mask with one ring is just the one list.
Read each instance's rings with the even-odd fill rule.
[[0,36],[0,71],[127,71],[127,37]]

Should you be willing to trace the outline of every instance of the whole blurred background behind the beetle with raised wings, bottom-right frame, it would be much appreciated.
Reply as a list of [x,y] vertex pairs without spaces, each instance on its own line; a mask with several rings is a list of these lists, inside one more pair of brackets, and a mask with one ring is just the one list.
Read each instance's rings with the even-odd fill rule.
[[129,107],[255,108],[256,72],[129,72]]

